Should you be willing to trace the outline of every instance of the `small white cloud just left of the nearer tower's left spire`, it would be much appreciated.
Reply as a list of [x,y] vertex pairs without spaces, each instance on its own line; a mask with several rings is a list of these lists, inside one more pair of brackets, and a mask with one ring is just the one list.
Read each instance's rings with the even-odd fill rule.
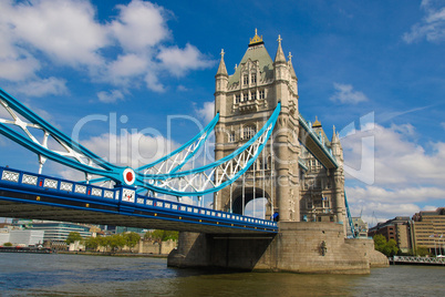
[[215,61],[206,60],[204,54],[189,43],[185,49],[163,48],[157,58],[163,66],[176,76],[183,76],[188,70],[205,69],[215,64]]

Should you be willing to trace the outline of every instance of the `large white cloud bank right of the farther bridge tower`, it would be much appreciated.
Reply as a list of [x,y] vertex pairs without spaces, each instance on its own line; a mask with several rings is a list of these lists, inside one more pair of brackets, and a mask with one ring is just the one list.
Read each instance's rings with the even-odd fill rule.
[[[364,137],[374,137],[374,183],[363,185],[351,180],[346,172],[348,199],[353,215],[364,212],[368,219],[379,221],[397,215],[412,216],[423,205],[434,204],[445,198],[443,176],[445,168],[445,143],[428,143],[430,152],[417,143],[417,134],[411,124],[384,127],[374,124],[373,130],[354,131],[341,140],[344,150],[344,164],[358,167],[362,158]],[[360,167],[360,166],[359,166]],[[432,207],[438,207],[431,206]],[[371,221],[369,221],[371,223]]]

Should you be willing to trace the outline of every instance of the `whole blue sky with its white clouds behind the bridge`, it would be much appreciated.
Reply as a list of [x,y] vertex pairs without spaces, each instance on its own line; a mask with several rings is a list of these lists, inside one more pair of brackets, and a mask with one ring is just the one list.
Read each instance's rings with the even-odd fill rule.
[[[219,52],[232,74],[256,28],[272,58],[278,34],[292,53],[304,117],[340,131],[353,215],[375,223],[445,206],[444,1],[7,0],[0,86],[135,166],[209,121]],[[38,167],[4,137],[0,154],[2,165]]]

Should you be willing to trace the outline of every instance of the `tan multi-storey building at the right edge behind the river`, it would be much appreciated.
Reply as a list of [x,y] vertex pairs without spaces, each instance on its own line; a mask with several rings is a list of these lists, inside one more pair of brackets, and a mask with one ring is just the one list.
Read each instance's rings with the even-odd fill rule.
[[431,254],[445,254],[445,207],[413,215],[413,237],[416,248],[426,247]]

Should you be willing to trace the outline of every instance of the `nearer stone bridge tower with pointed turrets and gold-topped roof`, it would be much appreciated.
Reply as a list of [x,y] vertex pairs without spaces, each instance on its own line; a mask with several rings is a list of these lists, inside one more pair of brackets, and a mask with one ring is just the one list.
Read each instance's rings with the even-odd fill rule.
[[267,217],[276,214],[280,221],[300,221],[298,80],[291,55],[287,61],[283,54],[281,38],[272,60],[256,32],[232,75],[227,73],[222,51],[215,78],[215,112],[220,116],[216,160],[251,139],[281,102],[272,140],[244,178],[215,195],[216,208],[241,213],[248,202],[265,197]]

